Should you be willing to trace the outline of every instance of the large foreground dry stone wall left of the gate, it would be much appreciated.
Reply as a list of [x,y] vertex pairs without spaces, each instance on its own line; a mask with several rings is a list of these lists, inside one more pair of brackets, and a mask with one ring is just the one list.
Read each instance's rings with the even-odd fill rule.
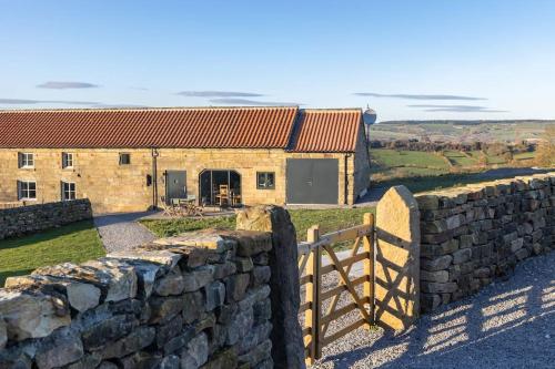
[[0,368],[271,368],[271,249],[205,230],[8,278]]

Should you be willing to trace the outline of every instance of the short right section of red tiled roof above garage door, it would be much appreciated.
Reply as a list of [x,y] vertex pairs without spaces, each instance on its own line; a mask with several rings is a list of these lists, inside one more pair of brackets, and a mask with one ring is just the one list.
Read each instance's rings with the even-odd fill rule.
[[293,152],[354,152],[361,129],[359,109],[303,110]]

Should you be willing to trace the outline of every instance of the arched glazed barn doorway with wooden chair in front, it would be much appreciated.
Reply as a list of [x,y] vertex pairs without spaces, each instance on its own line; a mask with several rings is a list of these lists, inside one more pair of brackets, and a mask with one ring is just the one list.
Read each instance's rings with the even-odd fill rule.
[[200,197],[205,205],[241,205],[241,175],[232,170],[205,170],[199,175]]

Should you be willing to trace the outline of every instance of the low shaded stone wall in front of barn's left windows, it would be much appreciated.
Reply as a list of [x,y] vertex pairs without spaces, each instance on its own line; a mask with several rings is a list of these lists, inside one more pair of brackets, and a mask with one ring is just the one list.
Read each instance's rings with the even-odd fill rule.
[[0,209],[0,239],[92,218],[89,199]]

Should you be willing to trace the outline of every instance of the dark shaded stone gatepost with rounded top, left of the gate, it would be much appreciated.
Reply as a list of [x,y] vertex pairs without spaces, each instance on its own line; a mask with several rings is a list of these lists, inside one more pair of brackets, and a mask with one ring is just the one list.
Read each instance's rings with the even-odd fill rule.
[[304,368],[304,345],[299,324],[301,305],[296,233],[289,213],[279,206],[256,206],[239,212],[238,230],[272,233],[269,253],[272,271],[272,359],[275,368]]

